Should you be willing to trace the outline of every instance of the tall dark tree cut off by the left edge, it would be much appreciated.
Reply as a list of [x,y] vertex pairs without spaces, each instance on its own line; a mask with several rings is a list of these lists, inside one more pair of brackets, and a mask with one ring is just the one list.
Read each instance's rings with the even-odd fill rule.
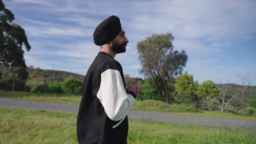
[[13,20],[14,14],[5,9],[4,3],[0,0],[0,63],[7,67],[11,65],[11,72],[14,74],[14,91],[16,77],[26,69],[22,45],[27,51],[30,51],[31,46],[28,44],[24,29],[16,23],[11,23]]

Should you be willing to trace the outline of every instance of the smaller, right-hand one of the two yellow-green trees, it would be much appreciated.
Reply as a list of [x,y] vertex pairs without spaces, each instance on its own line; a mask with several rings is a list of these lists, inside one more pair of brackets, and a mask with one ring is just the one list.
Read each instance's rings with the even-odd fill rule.
[[197,97],[217,97],[219,94],[220,91],[211,80],[203,82],[196,91]]

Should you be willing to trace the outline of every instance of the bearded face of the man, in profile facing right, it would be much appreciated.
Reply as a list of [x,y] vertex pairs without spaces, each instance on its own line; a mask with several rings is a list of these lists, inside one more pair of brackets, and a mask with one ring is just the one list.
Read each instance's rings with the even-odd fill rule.
[[126,45],[129,43],[128,39],[125,37],[125,32],[123,28],[121,29],[121,32],[118,34],[117,37],[113,41],[110,42],[110,48],[115,53],[122,53],[126,51]]

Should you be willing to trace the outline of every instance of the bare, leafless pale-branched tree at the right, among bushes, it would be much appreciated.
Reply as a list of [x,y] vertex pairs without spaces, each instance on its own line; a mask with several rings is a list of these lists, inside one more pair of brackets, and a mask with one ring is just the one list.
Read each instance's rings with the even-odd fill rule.
[[234,107],[231,104],[232,101],[234,100],[239,100],[238,97],[240,97],[242,94],[245,93],[246,89],[253,83],[252,79],[252,72],[248,72],[246,76],[241,76],[238,75],[243,83],[242,88],[240,89],[239,92],[235,94],[228,94],[228,89],[229,87],[229,81],[224,85],[224,87],[217,86],[221,94],[218,96],[218,98],[221,101],[221,104],[219,105],[220,111],[224,112],[228,106],[233,107],[234,109],[237,109],[237,107]]

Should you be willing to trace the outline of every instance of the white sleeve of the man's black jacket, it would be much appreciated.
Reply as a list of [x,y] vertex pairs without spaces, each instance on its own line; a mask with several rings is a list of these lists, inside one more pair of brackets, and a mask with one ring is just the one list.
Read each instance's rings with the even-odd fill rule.
[[113,121],[123,119],[133,108],[135,98],[127,94],[118,70],[108,69],[101,74],[101,86],[97,93],[107,116]]

